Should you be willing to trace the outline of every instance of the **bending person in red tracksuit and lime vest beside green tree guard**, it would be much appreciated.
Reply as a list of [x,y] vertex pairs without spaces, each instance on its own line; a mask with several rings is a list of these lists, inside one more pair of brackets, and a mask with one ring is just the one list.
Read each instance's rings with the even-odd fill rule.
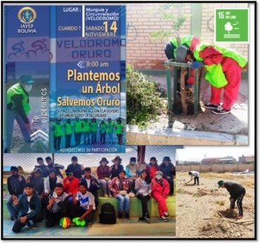
[[205,79],[212,85],[212,96],[209,103],[204,103],[204,108],[211,109],[214,114],[231,113],[230,110],[238,99],[241,72],[247,60],[239,53],[223,46],[203,43],[190,46],[190,50],[186,46],[179,46],[176,49],[176,56],[179,56],[177,59],[181,63],[194,61],[192,69],[206,68]]

